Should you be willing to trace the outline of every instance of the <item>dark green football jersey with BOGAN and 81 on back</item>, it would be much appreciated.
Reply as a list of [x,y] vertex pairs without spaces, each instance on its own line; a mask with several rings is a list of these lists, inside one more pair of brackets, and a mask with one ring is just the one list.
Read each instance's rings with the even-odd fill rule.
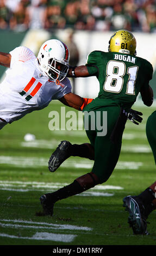
[[142,87],[148,87],[153,67],[146,59],[118,52],[93,51],[86,63],[89,74],[98,75],[99,94],[86,110],[120,105],[130,108]]

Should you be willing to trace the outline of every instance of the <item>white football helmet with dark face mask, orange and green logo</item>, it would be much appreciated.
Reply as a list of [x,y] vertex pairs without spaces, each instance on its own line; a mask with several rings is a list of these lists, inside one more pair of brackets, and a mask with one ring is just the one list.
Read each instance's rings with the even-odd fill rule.
[[44,42],[38,54],[41,70],[54,81],[62,81],[66,77],[69,59],[70,53],[67,46],[56,39]]

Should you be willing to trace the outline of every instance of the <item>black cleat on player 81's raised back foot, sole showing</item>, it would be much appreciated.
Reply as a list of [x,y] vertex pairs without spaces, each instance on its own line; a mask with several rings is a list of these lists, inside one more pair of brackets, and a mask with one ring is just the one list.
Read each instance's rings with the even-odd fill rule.
[[51,155],[48,168],[50,172],[55,172],[68,157],[70,157],[70,146],[71,143],[68,141],[61,141],[57,149]]

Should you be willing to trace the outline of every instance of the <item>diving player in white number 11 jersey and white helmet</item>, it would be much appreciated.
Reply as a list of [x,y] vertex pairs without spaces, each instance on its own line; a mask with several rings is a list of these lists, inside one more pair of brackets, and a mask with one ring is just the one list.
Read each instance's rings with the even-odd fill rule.
[[67,46],[55,39],[43,43],[38,57],[24,46],[0,52],[0,64],[9,68],[0,85],[0,129],[52,100],[82,110],[89,101],[71,93],[69,59]]

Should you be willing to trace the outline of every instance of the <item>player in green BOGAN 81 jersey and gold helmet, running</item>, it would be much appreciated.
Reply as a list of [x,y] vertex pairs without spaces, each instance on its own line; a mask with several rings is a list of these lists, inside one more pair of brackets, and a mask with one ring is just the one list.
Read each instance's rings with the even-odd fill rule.
[[[139,92],[143,103],[152,105],[153,91],[149,86],[152,75],[152,65],[136,57],[136,40],[128,31],[117,31],[111,36],[108,52],[93,51],[86,65],[70,67],[68,77],[96,76],[99,81],[98,96],[83,109],[84,121],[85,116],[88,118],[86,134],[90,144],[83,144],[82,152],[88,152],[94,164],[91,172],[80,176],[70,185],[40,197],[45,214],[53,215],[53,206],[58,200],[82,193],[109,179],[120,155],[129,108]],[[92,123],[98,124],[95,129],[92,129]],[[104,135],[99,132],[99,127],[103,127],[99,124],[107,124]],[[81,150],[82,145],[76,146],[63,141],[52,154],[49,162],[51,170],[67,159],[71,151],[74,154],[79,146]]]

